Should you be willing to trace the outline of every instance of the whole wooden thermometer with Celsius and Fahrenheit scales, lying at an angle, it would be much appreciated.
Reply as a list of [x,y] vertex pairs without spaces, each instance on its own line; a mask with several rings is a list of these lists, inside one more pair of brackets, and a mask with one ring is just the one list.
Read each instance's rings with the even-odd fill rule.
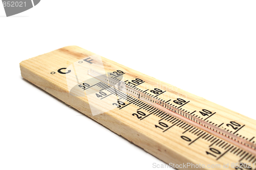
[[67,46],[20,63],[22,77],[176,169],[256,169],[256,121]]

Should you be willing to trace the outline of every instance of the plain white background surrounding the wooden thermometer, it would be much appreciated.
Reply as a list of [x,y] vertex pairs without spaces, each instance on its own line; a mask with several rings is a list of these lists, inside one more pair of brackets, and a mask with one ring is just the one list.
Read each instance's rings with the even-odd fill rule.
[[43,0],[8,18],[0,5],[0,169],[156,169],[153,163],[164,164],[22,79],[19,62],[67,45],[256,119],[255,5]]

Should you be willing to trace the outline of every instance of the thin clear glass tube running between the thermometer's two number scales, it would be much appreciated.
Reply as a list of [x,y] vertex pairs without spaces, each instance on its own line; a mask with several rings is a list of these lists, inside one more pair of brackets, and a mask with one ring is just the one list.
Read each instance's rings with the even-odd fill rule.
[[256,155],[256,144],[254,144],[250,141],[247,141],[239,136],[236,136],[236,135],[234,135],[230,132],[227,132],[219,127],[216,127],[216,126],[206,122],[205,120],[197,118],[196,116],[190,115],[180,109],[177,109],[171,105],[168,105],[167,103],[162,102],[162,101],[154,98],[153,96],[147,95],[146,93],[136,90],[130,86],[126,86],[122,81],[117,81],[110,77],[107,77],[106,75],[102,75],[93,69],[89,69],[88,74],[90,76],[100,80],[101,82],[103,82],[105,84],[109,84],[110,86],[113,86],[120,91],[123,91],[129,95],[132,95],[136,99],[139,99],[149,105],[152,105],[152,106],[158,108],[161,111],[164,111],[165,113],[173,115],[190,125],[200,128],[212,135],[220,137],[221,139],[224,139],[234,145],[237,145],[239,148],[244,149],[244,150]]

